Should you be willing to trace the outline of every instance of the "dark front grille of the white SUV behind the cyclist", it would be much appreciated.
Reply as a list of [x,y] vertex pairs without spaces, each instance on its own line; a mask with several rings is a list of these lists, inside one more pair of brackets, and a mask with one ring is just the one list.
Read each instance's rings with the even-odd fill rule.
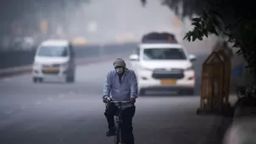
[[184,77],[184,70],[173,68],[171,70],[167,70],[164,68],[154,69],[152,77],[155,79],[162,78],[173,78],[173,79],[181,79]]

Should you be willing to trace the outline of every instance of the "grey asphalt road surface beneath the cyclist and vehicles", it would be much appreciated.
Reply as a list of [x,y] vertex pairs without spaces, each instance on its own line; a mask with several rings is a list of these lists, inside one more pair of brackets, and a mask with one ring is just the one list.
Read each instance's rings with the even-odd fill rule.
[[[198,56],[195,63],[198,82],[204,58]],[[107,122],[101,99],[104,78],[112,68],[112,61],[77,67],[74,84],[34,84],[30,74],[0,79],[0,143],[114,143],[113,138],[105,137]],[[199,83],[197,91],[198,86]],[[198,106],[198,96],[151,94],[138,98],[134,117],[136,143],[207,141],[213,136],[216,118],[196,115]]]

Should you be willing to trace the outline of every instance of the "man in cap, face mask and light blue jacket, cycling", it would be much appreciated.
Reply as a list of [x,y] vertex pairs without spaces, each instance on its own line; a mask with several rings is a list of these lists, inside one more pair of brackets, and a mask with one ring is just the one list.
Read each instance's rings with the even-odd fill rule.
[[[114,70],[107,74],[106,82],[103,86],[103,102],[107,103],[110,93],[111,98],[117,101],[131,101],[131,104],[122,105],[122,134],[125,144],[134,144],[132,118],[135,114],[135,105],[137,98],[136,74],[126,68],[125,61],[117,58],[114,63]],[[109,131],[106,136],[115,135],[114,115],[116,114],[116,105],[108,103],[104,115],[109,124]]]

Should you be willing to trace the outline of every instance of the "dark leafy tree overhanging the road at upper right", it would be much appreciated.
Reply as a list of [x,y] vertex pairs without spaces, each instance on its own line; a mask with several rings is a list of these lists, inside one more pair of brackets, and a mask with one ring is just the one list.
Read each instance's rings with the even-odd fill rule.
[[182,3],[182,16],[192,19],[194,29],[188,31],[184,39],[203,40],[208,35],[223,35],[234,43],[237,54],[242,54],[253,76],[256,76],[256,8],[251,0],[163,0],[163,4],[177,11]]

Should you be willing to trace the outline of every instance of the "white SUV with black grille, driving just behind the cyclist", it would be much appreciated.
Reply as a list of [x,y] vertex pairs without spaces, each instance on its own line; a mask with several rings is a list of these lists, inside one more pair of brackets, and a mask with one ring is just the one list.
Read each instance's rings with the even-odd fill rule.
[[195,72],[192,61],[196,56],[188,55],[180,44],[140,44],[136,54],[130,57],[136,72],[138,92],[146,90],[173,89],[193,94]]

